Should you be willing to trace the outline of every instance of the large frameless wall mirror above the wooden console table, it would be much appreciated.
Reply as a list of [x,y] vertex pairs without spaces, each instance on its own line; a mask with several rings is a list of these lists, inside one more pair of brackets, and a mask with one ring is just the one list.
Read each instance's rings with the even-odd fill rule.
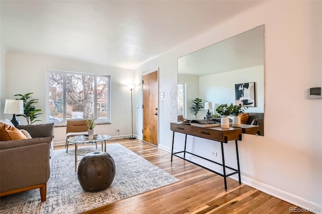
[[212,102],[212,113],[220,104],[248,104],[245,123],[260,123],[264,130],[264,25],[178,59],[178,115],[193,120],[196,97]]

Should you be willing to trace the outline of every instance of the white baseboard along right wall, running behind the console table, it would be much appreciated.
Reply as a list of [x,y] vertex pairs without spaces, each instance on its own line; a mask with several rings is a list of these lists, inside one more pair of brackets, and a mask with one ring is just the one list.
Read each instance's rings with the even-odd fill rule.
[[[158,145],[158,148],[165,150],[166,152],[169,152],[169,153],[171,153],[171,149],[172,149],[172,148],[164,146],[164,145]],[[178,152],[178,151],[174,151],[174,152]],[[199,159],[199,158],[191,156],[189,154],[186,154],[186,157],[189,158],[190,160],[198,159],[198,163],[205,166],[205,167],[209,167],[211,165],[206,160]],[[218,167],[212,166],[212,169],[214,169],[214,170],[218,169],[218,171],[222,170],[221,166],[218,166]],[[281,190],[281,189],[275,188],[273,186],[267,185],[265,183],[259,182],[257,180],[254,180],[254,179],[248,177],[248,176],[241,175],[240,177],[241,177],[241,183],[244,183],[248,186],[256,188],[256,189],[258,189],[262,192],[265,192],[269,195],[272,195],[272,196],[277,197],[281,200],[287,201],[291,204],[294,204],[296,206],[299,206],[299,207],[305,209],[305,210],[301,210],[301,211],[311,211],[314,213],[321,213],[322,214],[322,206],[317,203],[308,201],[308,200],[306,200],[302,197],[299,197],[297,195],[291,194],[291,193],[286,192],[284,190]],[[229,178],[232,178],[232,179],[238,181],[237,175],[232,175]]]

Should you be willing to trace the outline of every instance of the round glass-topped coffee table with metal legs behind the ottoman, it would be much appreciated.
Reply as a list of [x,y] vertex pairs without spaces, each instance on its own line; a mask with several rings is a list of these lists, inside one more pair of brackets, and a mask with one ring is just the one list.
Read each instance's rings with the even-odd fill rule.
[[80,135],[80,136],[75,136],[75,137],[70,137],[67,139],[67,141],[69,142],[69,144],[75,144],[75,171],[77,171],[77,145],[79,143],[84,143],[84,144],[94,144],[97,142],[102,142],[102,151],[103,151],[103,143],[104,143],[104,152],[106,152],[106,141],[111,139],[111,136],[109,135],[100,135],[98,134],[96,137],[94,137],[93,139],[88,139],[88,137],[85,137],[84,135]]

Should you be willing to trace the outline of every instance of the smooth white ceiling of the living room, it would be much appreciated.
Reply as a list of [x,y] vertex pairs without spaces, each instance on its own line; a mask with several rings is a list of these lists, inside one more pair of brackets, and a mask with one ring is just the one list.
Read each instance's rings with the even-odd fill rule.
[[260,1],[3,1],[7,51],[135,68]]

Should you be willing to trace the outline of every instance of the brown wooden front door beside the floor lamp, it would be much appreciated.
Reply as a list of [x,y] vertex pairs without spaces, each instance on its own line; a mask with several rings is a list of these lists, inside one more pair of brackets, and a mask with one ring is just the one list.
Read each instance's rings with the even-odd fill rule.
[[143,141],[157,146],[157,71],[143,76]]

